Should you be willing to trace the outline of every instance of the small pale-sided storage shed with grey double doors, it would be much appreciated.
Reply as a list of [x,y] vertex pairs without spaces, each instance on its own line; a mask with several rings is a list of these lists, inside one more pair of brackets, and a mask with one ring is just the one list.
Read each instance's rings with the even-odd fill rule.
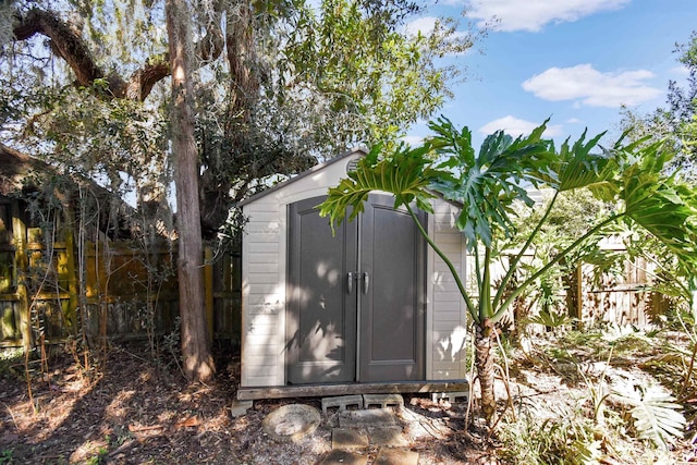
[[[466,389],[467,311],[443,261],[393,197],[332,234],[315,208],[365,156],[355,150],[242,204],[241,400]],[[457,210],[421,213],[463,271]]]

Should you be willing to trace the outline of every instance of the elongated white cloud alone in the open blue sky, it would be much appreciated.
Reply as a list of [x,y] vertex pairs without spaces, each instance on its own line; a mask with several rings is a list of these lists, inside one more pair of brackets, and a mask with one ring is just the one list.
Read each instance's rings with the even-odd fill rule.
[[662,94],[647,79],[653,73],[646,70],[601,73],[590,64],[572,68],[550,68],[523,83],[523,88],[543,100],[575,100],[577,107],[619,108],[635,106]]

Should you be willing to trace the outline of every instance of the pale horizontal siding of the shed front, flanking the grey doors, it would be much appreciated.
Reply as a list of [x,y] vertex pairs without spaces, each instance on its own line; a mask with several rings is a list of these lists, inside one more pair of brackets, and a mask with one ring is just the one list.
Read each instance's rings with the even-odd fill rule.
[[[248,218],[242,247],[242,387],[285,384],[285,273],[288,206],[321,196],[345,176],[345,157],[243,207]],[[454,228],[455,208],[436,203],[429,233],[463,272],[465,249]],[[466,271],[466,270],[465,270]],[[466,310],[457,286],[432,249],[427,258],[426,378],[465,377]]]

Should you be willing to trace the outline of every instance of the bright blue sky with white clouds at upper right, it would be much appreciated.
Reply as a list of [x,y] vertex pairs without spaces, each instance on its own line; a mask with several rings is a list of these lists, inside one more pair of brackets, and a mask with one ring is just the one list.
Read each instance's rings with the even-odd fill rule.
[[[673,53],[697,29],[697,0],[444,0],[412,24],[428,28],[438,15],[497,27],[477,50],[450,60],[466,69],[440,112],[467,125],[477,145],[504,129],[529,132],[551,117],[547,136],[620,133],[620,107],[649,112],[665,103],[670,79],[687,73]],[[425,122],[405,138],[428,135]]]

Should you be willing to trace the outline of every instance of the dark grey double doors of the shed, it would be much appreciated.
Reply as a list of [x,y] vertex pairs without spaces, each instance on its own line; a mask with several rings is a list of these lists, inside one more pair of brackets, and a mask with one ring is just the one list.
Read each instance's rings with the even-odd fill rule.
[[371,195],[332,235],[315,209],[322,200],[289,209],[289,383],[424,379],[425,242],[416,225],[392,209],[393,197]]

